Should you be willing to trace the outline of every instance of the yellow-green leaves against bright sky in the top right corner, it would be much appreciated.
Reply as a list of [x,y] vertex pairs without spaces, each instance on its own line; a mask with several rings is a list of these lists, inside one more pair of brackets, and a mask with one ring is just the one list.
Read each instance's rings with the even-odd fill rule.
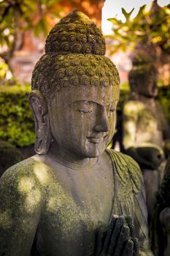
[[109,18],[113,24],[113,34],[107,36],[113,39],[114,45],[109,49],[111,54],[117,50],[134,50],[136,45],[144,45],[146,48],[160,47],[170,53],[169,29],[170,29],[170,4],[160,7],[156,1],[152,2],[149,12],[145,10],[146,5],[140,7],[138,14],[131,19],[131,12],[122,8],[125,23],[117,18]]

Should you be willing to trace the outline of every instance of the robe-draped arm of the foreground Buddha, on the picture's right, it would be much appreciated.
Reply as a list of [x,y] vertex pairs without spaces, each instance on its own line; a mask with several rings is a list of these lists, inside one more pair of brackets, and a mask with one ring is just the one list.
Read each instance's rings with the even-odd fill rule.
[[[119,165],[117,165],[118,160],[124,163],[125,168],[123,172],[120,174],[120,176],[123,180],[125,180],[126,177],[128,184],[131,184],[131,193],[133,193],[132,195],[134,197],[133,208],[129,208],[129,206],[131,206],[131,196],[125,198],[125,201],[123,201],[122,206],[125,205],[125,208],[129,209],[129,214],[133,216],[134,237],[138,238],[139,240],[139,255],[152,256],[148,239],[147,206],[142,172],[139,168],[139,165],[131,157],[128,157],[120,153],[117,154],[115,152],[114,160],[118,173],[121,173],[121,169],[119,169]],[[128,176],[126,176],[127,173]],[[123,214],[128,215],[125,212]]]

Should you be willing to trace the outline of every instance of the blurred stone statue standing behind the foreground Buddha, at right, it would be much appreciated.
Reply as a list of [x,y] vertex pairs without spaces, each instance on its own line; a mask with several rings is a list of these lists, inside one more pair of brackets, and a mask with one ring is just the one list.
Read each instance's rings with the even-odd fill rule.
[[123,108],[123,146],[142,167],[147,190],[147,206],[152,216],[155,192],[165,166],[164,146],[169,145],[169,124],[158,94],[157,70],[144,53],[138,53],[129,72],[131,95]]

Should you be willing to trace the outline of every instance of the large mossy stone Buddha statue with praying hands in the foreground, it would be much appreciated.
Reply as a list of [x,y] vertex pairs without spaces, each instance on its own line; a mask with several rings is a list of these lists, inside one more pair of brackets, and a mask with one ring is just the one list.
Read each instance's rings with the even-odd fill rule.
[[119,75],[99,29],[73,11],[32,75],[36,155],[0,180],[0,255],[152,255],[139,166],[106,150]]

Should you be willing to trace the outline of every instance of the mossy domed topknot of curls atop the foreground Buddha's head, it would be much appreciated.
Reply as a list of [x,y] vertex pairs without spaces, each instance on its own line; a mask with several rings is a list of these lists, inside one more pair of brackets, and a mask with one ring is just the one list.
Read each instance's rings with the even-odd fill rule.
[[82,12],[74,10],[50,31],[45,53],[83,53],[104,55],[106,45],[96,24]]

